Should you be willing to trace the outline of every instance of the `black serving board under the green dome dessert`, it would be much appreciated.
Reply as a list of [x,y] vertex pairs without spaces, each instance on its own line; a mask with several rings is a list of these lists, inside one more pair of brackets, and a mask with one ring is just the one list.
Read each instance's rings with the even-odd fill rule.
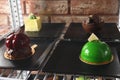
[[[89,65],[79,59],[80,51],[85,42],[60,41],[52,56],[43,68],[43,72],[75,75],[94,75],[120,77],[120,62],[118,54],[120,51],[116,47],[118,43],[109,42],[114,60],[106,65]],[[118,49],[120,46],[118,47]]]

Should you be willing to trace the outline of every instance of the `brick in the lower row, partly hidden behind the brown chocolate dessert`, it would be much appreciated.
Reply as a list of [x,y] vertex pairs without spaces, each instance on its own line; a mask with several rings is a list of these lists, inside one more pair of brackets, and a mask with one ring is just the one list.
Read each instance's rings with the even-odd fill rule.
[[[105,23],[118,23],[118,16],[117,15],[102,15],[100,16]],[[82,15],[65,15],[65,16],[52,16],[51,22],[52,23],[64,23],[66,21],[71,21],[75,23],[81,23],[84,20],[86,20],[88,16],[82,16]]]

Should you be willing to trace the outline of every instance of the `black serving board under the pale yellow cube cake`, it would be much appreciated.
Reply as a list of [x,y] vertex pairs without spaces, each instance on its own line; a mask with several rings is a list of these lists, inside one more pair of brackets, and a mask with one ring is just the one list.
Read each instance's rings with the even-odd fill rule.
[[65,23],[42,23],[40,31],[26,32],[31,38],[58,38],[65,27]]

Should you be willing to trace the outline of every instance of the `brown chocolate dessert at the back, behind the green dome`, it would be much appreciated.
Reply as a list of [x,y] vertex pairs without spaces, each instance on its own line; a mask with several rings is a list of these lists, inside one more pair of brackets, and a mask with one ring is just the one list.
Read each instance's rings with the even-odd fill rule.
[[87,33],[96,33],[104,26],[103,20],[98,15],[90,16],[86,21],[82,23],[82,27]]

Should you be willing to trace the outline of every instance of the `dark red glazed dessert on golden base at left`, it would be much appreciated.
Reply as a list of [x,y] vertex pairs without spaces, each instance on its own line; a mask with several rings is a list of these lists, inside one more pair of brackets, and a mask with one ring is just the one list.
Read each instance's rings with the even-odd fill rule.
[[10,34],[5,41],[7,50],[4,57],[9,60],[26,59],[35,53],[30,47],[30,40],[23,32]]

